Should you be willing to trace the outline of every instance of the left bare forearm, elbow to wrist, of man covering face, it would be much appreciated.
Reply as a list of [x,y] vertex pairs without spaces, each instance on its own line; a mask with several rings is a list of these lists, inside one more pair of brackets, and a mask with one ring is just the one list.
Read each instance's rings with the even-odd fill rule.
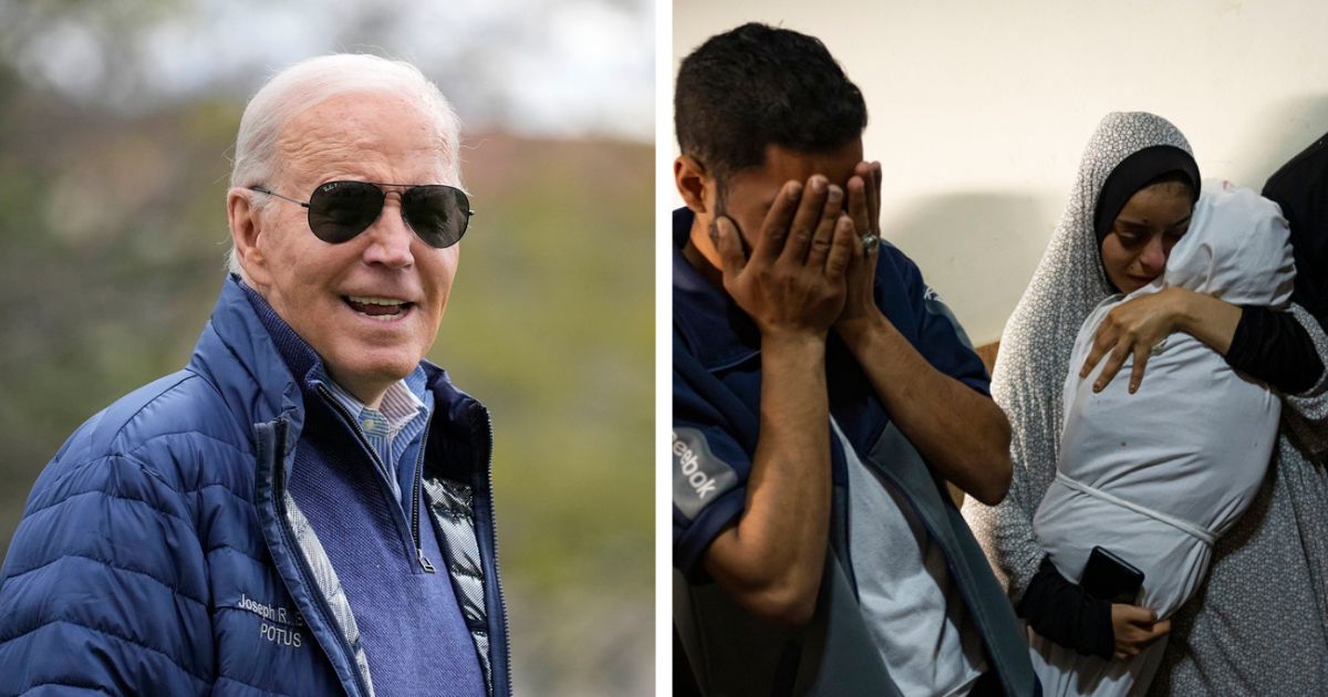
[[761,431],[746,508],[706,571],[748,611],[799,627],[813,615],[830,528],[823,336],[762,336]]

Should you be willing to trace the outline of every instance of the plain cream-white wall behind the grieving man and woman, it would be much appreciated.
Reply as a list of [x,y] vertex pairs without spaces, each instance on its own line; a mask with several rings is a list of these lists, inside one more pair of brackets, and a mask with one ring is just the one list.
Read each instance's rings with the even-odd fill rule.
[[976,344],[1000,339],[1108,112],[1166,117],[1204,179],[1256,190],[1328,131],[1317,0],[675,0],[673,76],[746,21],[817,36],[862,88],[884,236]]

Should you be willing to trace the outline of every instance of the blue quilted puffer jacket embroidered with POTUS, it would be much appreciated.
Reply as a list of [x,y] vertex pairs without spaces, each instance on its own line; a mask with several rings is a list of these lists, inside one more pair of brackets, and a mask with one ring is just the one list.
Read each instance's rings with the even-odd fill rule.
[[[0,570],[0,696],[373,694],[340,581],[286,489],[309,373],[292,376],[280,340],[231,276],[189,366],[60,449]],[[489,414],[426,370],[428,518],[474,535],[478,564],[444,562],[458,599],[482,588],[463,616],[489,693],[506,696]]]

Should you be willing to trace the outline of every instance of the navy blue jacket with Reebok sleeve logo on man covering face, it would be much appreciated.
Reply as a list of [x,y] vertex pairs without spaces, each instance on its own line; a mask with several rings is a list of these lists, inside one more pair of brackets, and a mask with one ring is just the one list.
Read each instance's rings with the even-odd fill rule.
[[[794,633],[772,631],[705,576],[706,548],[746,503],[760,426],[761,344],[752,320],[683,256],[692,220],[685,208],[673,214],[673,621],[697,682],[708,694],[898,694],[858,609],[847,466],[833,434],[830,550],[811,623]],[[884,242],[875,299],[928,362],[987,394],[987,370],[954,315],[918,267]],[[944,554],[989,669],[1008,694],[1040,692],[1013,608],[944,481],[892,424],[834,336],[826,378],[830,414],[858,458],[898,487]]]

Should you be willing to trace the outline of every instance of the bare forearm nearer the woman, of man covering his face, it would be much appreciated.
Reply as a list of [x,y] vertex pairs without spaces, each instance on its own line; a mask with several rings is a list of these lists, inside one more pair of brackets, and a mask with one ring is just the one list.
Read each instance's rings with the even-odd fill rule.
[[891,420],[936,473],[987,504],[1009,490],[1009,422],[991,398],[936,370],[879,312],[841,325]]

